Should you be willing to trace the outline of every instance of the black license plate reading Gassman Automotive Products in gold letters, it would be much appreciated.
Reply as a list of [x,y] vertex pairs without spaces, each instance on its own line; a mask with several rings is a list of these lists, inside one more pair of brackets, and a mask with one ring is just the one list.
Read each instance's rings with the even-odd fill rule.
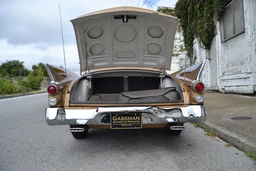
[[141,113],[111,114],[111,129],[141,129]]

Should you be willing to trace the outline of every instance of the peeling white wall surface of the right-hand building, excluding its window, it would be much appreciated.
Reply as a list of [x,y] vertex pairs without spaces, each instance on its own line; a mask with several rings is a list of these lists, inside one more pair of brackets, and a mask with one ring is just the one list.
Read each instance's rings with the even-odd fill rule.
[[[209,52],[195,39],[196,62],[206,60],[202,81],[208,90],[251,94],[256,91],[256,1],[244,0],[245,33],[221,42],[221,26]],[[211,60],[206,59],[207,55]]]

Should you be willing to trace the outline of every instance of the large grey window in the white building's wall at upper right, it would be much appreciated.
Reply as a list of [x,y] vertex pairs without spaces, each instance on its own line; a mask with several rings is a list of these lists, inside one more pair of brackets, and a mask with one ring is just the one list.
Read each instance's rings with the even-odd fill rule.
[[245,32],[243,0],[233,0],[225,8],[221,20],[222,41]]

